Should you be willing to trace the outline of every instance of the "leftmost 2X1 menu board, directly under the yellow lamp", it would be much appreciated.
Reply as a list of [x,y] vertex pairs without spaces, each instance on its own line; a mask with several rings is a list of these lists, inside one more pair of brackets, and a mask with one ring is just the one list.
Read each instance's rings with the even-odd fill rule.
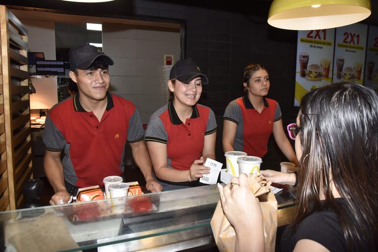
[[298,31],[294,106],[309,91],[332,81],[335,29]]

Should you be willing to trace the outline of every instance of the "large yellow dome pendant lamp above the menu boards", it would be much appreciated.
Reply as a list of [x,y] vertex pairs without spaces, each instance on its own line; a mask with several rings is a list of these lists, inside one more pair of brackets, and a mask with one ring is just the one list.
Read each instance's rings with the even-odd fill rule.
[[288,30],[351,25],[371,14],[370,0],[273,0],[268,24]]

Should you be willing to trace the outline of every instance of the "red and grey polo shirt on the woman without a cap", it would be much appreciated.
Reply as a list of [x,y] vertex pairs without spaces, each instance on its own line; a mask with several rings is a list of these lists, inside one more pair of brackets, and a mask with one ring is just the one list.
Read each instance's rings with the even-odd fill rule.
[[263,98],[264,108],[259,113],[245,94],[231,101],[224,111],[224,120],[236,123],[234,150],[248,155],[263,157],[268,151],[268,140],[273,123],[281,120],[281,109],[277,101]]

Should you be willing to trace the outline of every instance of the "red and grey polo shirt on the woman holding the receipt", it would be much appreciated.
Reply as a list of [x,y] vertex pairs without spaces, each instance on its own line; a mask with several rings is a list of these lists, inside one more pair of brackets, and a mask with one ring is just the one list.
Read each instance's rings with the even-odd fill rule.
[[167,165],[189,170],[194,160],[202,156],[205,135],[216,132],[216,118],[209,107],[197,104],[185,123],[181,122],[173,102],[168,102],[151,117],[145,140],[167,145]]

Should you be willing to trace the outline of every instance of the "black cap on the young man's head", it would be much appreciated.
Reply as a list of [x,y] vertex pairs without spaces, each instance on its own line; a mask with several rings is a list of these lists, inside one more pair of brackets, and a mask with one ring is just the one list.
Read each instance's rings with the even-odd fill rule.
[[92,65],[93,61],[98,57],[104,57],[108,65],[113,65],[114,61],[98,47],[89,45],[89,43],[81,45],[70,51],[71,71],[75,69],[85,70]]

